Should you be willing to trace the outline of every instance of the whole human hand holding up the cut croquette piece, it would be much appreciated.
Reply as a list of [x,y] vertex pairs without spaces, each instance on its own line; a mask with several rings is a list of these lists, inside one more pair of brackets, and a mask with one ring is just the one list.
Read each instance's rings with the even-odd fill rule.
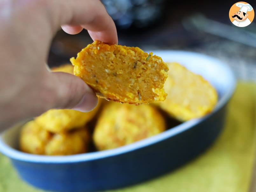
[[49,72],[46,61],[60,26],[87,29],[93,40],[117,44],[113,20],[99,0],[2,0],[0,2],[0,129],[51,108],[83,112],[97,104],[80,78]]

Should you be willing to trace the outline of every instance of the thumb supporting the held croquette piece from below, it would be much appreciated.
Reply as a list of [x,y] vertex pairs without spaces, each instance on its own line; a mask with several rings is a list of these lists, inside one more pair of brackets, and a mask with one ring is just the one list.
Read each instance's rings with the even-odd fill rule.
[[97,106],[98,98],[93,90],[79,77],[64,72],[49,72],[54,90],[55,107],[88,112]]

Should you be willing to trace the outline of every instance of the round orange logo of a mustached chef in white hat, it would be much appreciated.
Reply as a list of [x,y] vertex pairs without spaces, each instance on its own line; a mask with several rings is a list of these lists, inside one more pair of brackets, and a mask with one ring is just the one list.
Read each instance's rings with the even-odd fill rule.
[[237,27],[246,27],[253,22],[253,7],[246,2],[235,3],[229,10],[229,18]]

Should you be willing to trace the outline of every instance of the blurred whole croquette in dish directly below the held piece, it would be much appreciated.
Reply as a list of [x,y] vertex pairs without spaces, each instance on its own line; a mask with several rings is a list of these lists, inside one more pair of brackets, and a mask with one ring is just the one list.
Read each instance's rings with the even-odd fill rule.
[[129,105],[111,102],[103,107],[93,141],[98,150],[128,145],[165,130],[162,115],[149,105]]

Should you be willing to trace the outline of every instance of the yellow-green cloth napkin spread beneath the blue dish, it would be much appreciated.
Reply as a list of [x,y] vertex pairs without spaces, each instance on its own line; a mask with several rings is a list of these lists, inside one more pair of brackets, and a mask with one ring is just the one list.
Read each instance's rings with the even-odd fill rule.
[[[115,192],[247,192],[256,150],[256,84],[240,82],[228,105],[217,141],[185,166],[156,179]],[[0,154],[0,191],[39,192],[21,181]]]

